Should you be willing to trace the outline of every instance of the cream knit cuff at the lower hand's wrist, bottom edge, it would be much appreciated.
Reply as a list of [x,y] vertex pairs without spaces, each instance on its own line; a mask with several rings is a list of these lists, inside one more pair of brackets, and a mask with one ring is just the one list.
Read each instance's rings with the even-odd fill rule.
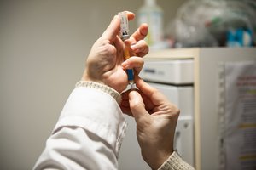
[[177,151],[174,150],[172,155],[161,165],[158,170],[194,170],[186,161],[183,161]]

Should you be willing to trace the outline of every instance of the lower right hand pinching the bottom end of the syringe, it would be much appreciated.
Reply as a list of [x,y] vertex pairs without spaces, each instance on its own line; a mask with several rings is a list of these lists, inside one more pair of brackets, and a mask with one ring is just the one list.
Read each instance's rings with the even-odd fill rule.
[[158,169],[172,155],[179,110],[166,96],[136,77],[138,91],[125,92],[121,109],[134,116],[144,161]]

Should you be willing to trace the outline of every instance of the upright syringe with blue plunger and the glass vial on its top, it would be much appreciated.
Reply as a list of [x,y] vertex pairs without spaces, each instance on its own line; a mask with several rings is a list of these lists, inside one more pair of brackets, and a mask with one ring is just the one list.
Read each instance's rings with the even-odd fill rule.
[[[120,27],[120,37],[123,40],[123,42],[125,42],[125,54],[124,54],[124,58],[129,59],[130,58],[130,43],[126,40],[128,40],[130,38],[129,36],[129,26],[128,26],[128,18],[127,18],[127,14],[125,12],[121,12],[119,13],[119,17],[121,20],[121,27]],[[128,75],[128,82],[131,86],[131,88],[134,88],[134,72],[132,69],[127,69],[127,75]]]

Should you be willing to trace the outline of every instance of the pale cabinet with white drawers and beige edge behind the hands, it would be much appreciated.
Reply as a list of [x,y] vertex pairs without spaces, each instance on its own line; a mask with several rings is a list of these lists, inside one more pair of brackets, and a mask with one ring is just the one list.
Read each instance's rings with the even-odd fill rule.
[[[256,48],[166,49],[145,57],[140,76],[181,109],[175,144],[184,160],[197,170],[219,169],[218,65],[243,61],[256,61]],[[128,132],[125,140],[136,138],[135,128],[132,133],[131,137]],[[130,162],[143,164],[135,156],[140,155],[139,147],[127,142],[121,149],[120,161],[124,160],[126,150],[135,150],[134,155],[126,157]],[[120,169],[125,169],[122,163]]]

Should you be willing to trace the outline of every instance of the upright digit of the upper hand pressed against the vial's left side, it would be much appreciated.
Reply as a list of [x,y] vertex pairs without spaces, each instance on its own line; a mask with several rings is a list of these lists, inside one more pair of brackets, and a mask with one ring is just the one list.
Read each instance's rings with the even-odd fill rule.
[[118,15],[113,17],[113,20],[110,22],[108,28],[103,32],[102,39],[114,42],[117,35],[119,35],[120,30],[120,19]]

